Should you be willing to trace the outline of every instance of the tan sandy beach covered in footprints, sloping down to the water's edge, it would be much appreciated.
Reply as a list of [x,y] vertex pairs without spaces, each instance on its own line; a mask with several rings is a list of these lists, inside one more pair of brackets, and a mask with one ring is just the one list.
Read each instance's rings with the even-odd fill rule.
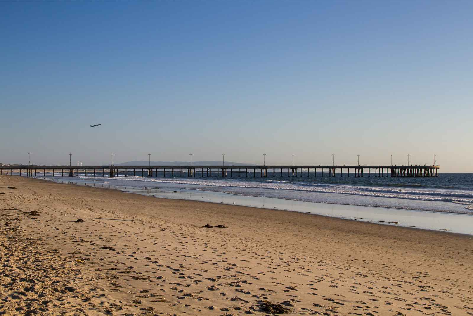
[[473,315],[472,236],[15,176],[0,187],[0,315],[262,315],[264,301]]

